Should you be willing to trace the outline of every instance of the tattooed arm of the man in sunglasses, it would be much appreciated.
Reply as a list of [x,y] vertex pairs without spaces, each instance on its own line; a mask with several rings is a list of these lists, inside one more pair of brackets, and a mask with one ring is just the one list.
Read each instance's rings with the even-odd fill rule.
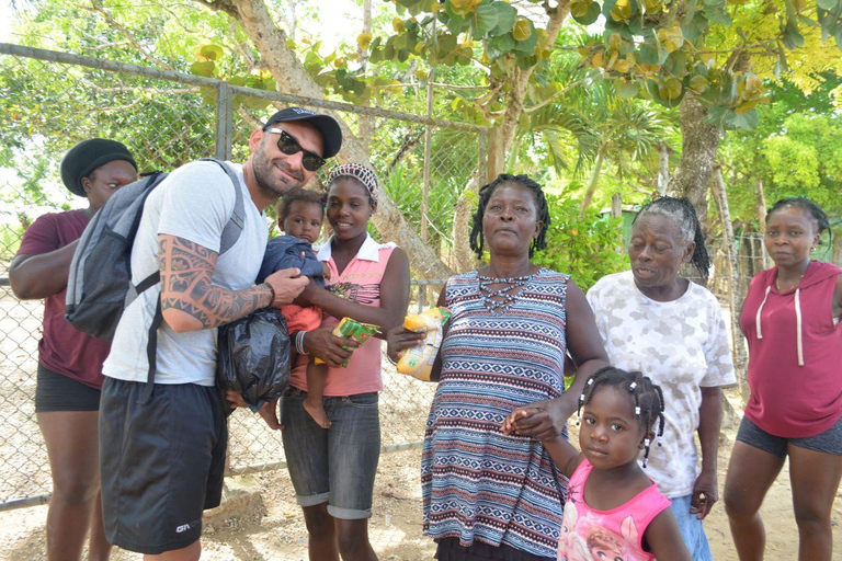
[[272,304],[266,285],[228,290],[210,283],[218,254],[175,236],[158,236],[161,310],[173,331],[197,331],[230,323]]

